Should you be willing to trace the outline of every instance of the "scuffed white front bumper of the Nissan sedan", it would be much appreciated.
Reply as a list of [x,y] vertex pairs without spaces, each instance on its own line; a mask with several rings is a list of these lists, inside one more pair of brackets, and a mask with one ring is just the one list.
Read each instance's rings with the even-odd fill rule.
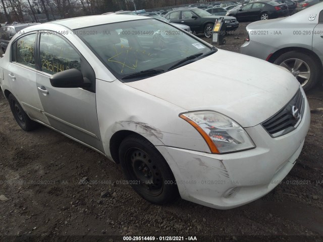
[[258,199],[280,184],[302,150],[309,123],[310,109],[305,100],[300,125],[284,136],[272,138],[261,125],[246,128],[257,146],[251,150],[218,155],[156,148],[171,167],[183,199],[230,209]]

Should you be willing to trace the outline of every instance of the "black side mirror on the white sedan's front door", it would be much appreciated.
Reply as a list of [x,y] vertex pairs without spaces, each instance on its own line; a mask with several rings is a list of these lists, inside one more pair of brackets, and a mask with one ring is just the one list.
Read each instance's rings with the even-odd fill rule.
[[87,78],[83,78],[83,74],[77,69],[69,69],[53,74],[49,80],[53,87],[76,88],[91,86],[91,82]]

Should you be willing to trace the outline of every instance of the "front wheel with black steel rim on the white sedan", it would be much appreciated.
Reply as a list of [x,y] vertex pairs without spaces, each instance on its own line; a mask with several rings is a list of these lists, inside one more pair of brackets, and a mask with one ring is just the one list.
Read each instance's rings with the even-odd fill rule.
[[132,188],[154,204],[174,202],[178,188],[164,157],[145,138],[130,135],[119,147],[119,159]]

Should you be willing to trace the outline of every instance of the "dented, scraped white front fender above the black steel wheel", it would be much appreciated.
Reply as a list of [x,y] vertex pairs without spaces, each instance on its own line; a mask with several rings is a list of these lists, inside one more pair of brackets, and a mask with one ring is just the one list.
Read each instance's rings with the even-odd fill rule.
[[111,157],[110,139],[132,131],[155,146],[210,152],[201,135],[179,114],[186,110],[122,82],[97,80],[96,106],[104,152]]

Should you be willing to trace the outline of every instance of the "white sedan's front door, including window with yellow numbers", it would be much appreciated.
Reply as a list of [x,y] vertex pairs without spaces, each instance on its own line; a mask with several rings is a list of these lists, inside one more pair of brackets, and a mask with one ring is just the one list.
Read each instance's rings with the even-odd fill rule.
[[[58,34],[40,34],[38,56],[40,72],[36,77],[37,90],[50,126],[103,151],[93,69],[72,44]],[[51,86],[51,75],[73,68],[89,79],[92,90]]]

